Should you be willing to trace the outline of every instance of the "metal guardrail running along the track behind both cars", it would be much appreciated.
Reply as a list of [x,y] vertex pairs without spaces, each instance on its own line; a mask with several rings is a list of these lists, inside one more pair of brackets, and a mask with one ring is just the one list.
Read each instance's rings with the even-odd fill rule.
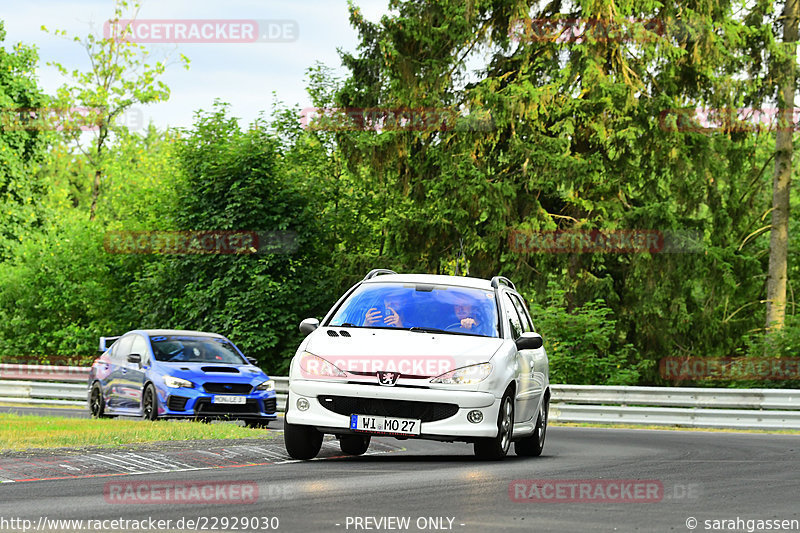
[[[88,374],[84,367],[0,364],[0,403],[86,407]],[[289,378],[272,379],[283,411]],[[551,392],[554,422],[800,429],[798,389],[552,385]]]

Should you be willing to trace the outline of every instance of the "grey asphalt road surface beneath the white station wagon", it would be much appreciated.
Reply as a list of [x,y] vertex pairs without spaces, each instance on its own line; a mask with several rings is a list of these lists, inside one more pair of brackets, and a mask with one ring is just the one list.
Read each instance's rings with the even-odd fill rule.
[[[49,522],[53,519],[84,520],[83,531],[112,531],[125,529],[120,525],[131,529],[131,523],[87,520],[152,518],[171,520],[161,527],[149,523],[164,531],[205,526],[303,533],[691,531],[692,518],[698,521],[695,531],[758,531],[759,519],[800,520],[800,436],[553,427],[547,440],[542,457],[512,455],[494,463],[475,460],[466,444],[380,439],[391,446],[376,446],[383,451],[371,456],[6,483],[0,484],[0,530],[13,530],[15,524],[3,523],[12,518],[31,520],[29,531],[78,530],[76,524]],[[535,492],[515,480],[538,480]],[[571,489],[574,480],[584,481]],[[217,492],[202,504],[154,501],[169,498],[163,490],[147,492],[190,487],[186,482],[221,483],[234,492]],[[637,493],[637,486],[644,492]],[[245,497],[256,487],[257,497]],[[120,503],[126,490],[132,500]],[[512,501],[514,495],[528,499]],[[581,495],[590,501],[576,501]],[[603,496],[614,501],[602,501]],[[408,526],[390,517],[407,517]],[[187,527],[188,519],[200,522]],[[17,522],[17,530],[24,525]]]

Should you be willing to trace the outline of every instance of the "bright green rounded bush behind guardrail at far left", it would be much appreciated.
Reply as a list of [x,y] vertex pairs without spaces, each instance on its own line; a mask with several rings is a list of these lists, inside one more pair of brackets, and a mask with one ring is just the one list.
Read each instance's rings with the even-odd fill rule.
[[0,263],[0,357],[83,355],[132,323],[125,258],[103,249],[103,227],[64,220],[32,232]]

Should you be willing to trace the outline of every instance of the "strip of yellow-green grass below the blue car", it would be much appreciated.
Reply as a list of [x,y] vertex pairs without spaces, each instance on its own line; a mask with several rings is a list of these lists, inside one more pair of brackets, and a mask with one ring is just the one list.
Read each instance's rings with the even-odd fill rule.
[[0,451],[105,446],[205,439],[271,438],[263,429],[235,424],[60,418],[0,413]]

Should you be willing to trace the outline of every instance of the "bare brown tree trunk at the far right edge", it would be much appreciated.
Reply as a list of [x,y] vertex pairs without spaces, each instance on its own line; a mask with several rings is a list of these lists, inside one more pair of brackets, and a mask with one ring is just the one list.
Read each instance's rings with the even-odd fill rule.
[[786,262],[789,248],[789,188],[792,180],[792,134],[797,64],[798,7],[800,0],[786,0],[783,10],[785,56],[779,59],[778,127],[775,136],[775,176],[772,181],[772,230],[767,279],[768,331],[783,328],[786,313]]

